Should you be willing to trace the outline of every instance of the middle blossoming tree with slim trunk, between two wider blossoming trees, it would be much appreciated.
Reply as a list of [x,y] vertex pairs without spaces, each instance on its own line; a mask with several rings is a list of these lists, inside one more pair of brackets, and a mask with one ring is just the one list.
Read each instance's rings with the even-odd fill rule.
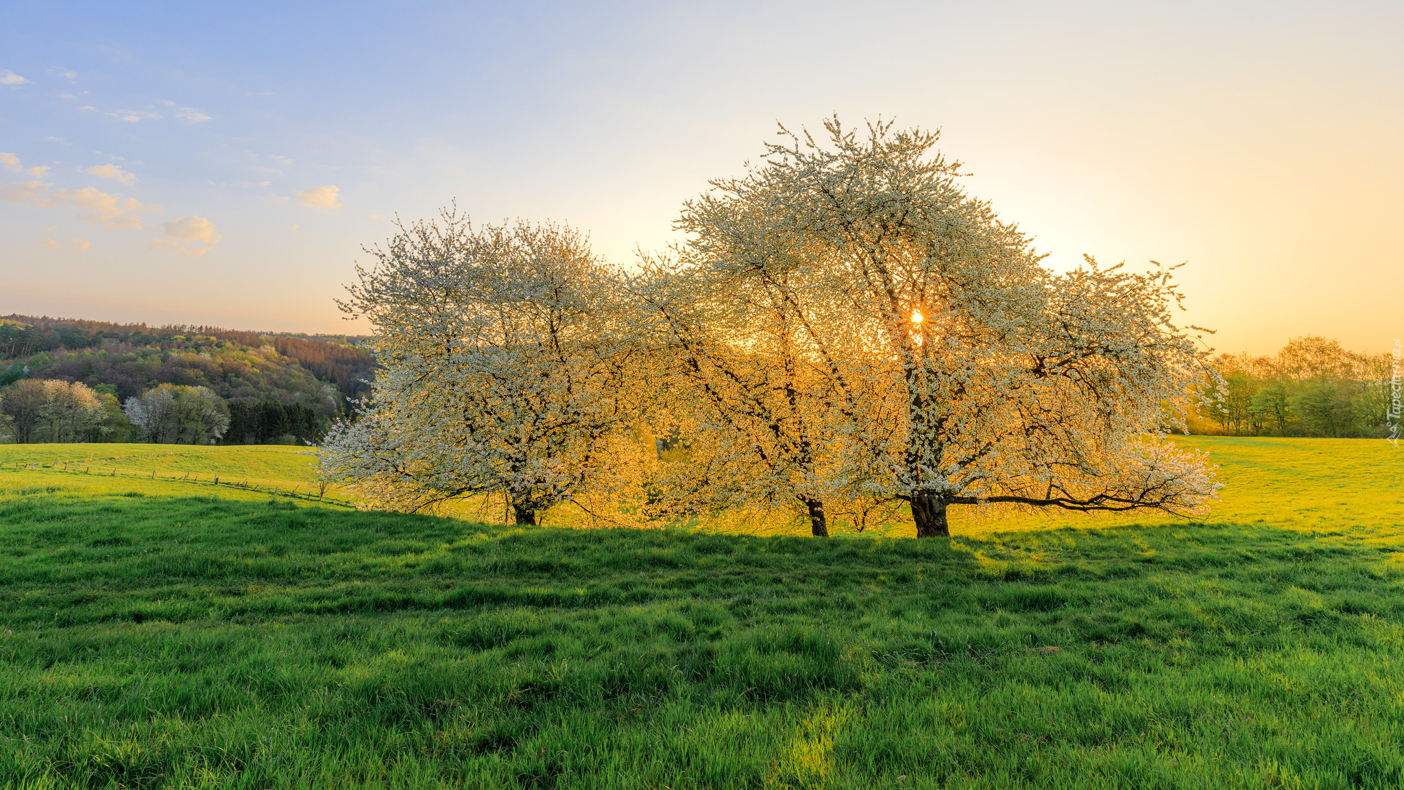
[[813,370],[782,294],[684,256],[646,259],[633,288],[665,374],[653,419],[689,440],[685,458],[663,465],[658,496],[688,509],[799,506],[827,537],[842,394]]

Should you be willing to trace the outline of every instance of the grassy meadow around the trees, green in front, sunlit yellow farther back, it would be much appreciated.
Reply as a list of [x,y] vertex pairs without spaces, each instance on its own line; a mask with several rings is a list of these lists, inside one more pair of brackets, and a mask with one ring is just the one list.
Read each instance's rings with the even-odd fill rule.
[[295,448],[4,446],[0,786],[1404,786],[1404,455],[1192,441],[1207,519],[949,541],[486,526],[135,474],[305,484]]

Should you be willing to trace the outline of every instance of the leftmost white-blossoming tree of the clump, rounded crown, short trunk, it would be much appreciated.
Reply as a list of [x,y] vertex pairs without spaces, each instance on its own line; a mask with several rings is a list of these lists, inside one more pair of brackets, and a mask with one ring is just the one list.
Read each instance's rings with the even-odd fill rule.
[[500,495],[519,524],[622,485],[647,392],[619,280],[580,232],[444,211],[368,252],[343,309],[382,367],[323,444],[327,479],[397,510]]

